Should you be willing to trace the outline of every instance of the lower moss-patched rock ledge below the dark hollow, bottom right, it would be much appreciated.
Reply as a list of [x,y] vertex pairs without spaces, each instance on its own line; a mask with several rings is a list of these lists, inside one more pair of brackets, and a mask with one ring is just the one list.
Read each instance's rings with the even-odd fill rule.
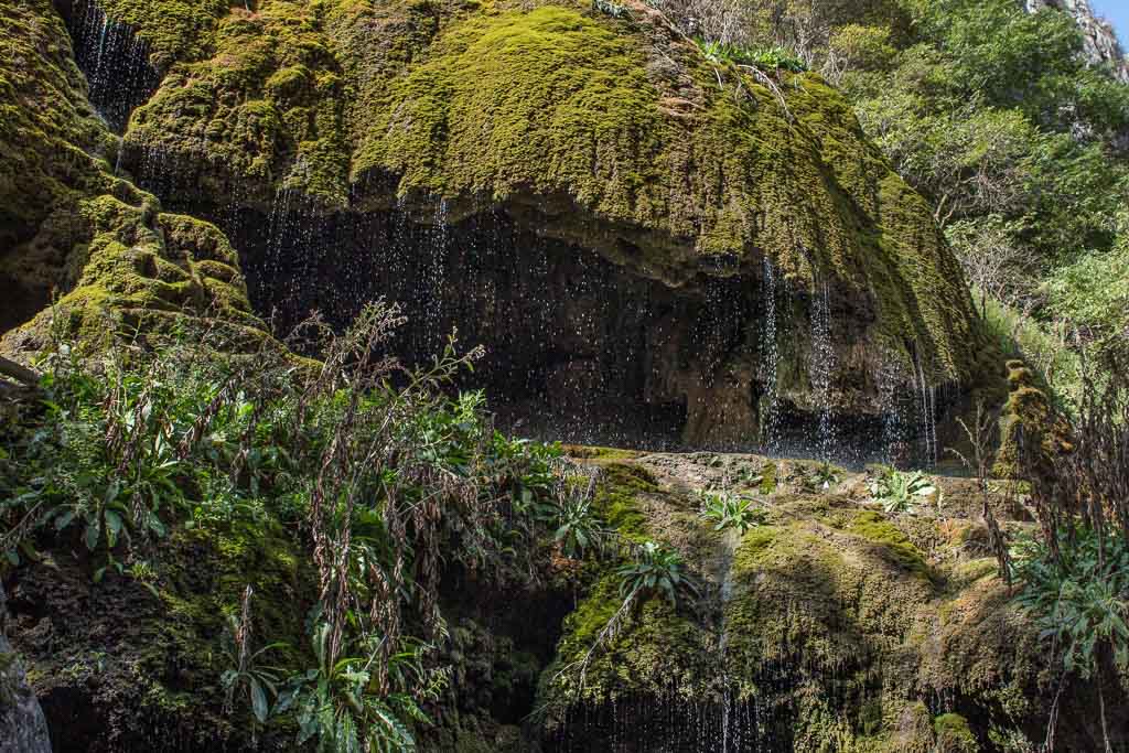
[[[542,674],[552,750],[994,750],[990,734],[1041,741],[1064,682],[1075,706],[1059,709],[1058,745],[1101,747],[1086,721],[1096,690],[1060,676],[997,577],[973,480],[940,479],[942,505],[890,515],[863,474],[821,490],[811,463],[704,453],[594,462],[609,523],[680,550],[704,597],[672,607],[655,595],[597,641],[623,597],[614,567],[589,576]],[[765,516],[735,548],[732,531],[697,515],[699,490],[726,488]],[[1001,499],[992,507],[1014,532],[1033,525]],[[1129,728],[1111,735],[1121,744]]]

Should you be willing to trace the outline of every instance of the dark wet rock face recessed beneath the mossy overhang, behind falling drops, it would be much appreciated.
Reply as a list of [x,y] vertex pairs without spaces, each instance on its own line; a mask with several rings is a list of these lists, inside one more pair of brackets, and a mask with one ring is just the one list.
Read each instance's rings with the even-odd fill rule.
[[255,309],[281,330],[312,310],[343,326],[365,301],[397,304],[401,359],[429,362],[453,331],[463,349],[484,347],[462,386],[484,388],[523,435],[778,448],[817,437],[821,449],[881,455],[922,426],[893,375],[855,378],[882,377],[859,339],[873,312],[830,286],[812,300],[768,264],[672,286],[502,209],[456,222],[440,204],[421,222],[406,211],[321,216],[282,196],[270,217],[215,219],[242,249]]

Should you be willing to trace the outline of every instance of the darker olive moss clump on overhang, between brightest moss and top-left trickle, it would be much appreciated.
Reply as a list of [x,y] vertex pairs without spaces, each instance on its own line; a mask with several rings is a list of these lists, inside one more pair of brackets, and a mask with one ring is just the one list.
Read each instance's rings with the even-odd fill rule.
[[344,207],[344,86],[321,9],[275,0],[213,21],[208,55],[186,55],[134,113],[129,154],[191,165],[217,200],[265,204],[286,189]]

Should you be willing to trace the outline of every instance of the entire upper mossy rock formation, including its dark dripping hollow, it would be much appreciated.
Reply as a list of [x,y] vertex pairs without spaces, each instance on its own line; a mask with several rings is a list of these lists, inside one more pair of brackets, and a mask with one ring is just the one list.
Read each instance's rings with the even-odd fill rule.
[[[53,295],[130,326],[219,310],[252,330],[384,295],[409,309],[405,359],[458,327],[497,358],[472,386],[588,441],[663,426],[931,458],[938,417],[998,379],[926,202],[816,76],[711,63],[641,3],[93,3],[56,7],[147,53],[98,70],[129,98],[160,84],[119,142],[59,16],[15,11],[43,21],[11,30],[43,177],[33,202],[9,183],[0,271],[24,305],[5,327]],[[47,87],[65,110],[20,104]],[[614,431],[593,420],[607,406]]]

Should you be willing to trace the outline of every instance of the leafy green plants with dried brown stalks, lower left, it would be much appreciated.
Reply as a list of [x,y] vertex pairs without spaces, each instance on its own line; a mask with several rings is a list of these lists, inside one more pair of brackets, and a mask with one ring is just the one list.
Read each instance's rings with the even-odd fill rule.
[[95,580],[137,577],[152,588],[159,558],[156,571],[139,558],[156,554],[152,541],[170,528],[281,522],[318,577],[296,595],[314,607],[316,666],[257,666],[266,649],[251,651],[245,611],[229,627],[230,668],[216,680],[233,698],[245,691],[262,721],[278,677],[295,672],[274,712],[295,715],[303,741],[410,747],[440,673],[425,667],[427,643],[403,630],[441,638],[441,568],[528,579],[539,542],[562,511],[583,518],[584,502],[568,502],[575,472],[558,446],[508,439],[481,394],[452,395],[478,351],[460,356],[452,340],[419,370],[383,356],[400,321],[380,304],[340,334],[310,319],[295,338],[316,364],[270,339],[233,353],[212,331],[87,360],[59,347],[44,364],[45,410],[0,458],[3,567],[69,537],[96,554]]

